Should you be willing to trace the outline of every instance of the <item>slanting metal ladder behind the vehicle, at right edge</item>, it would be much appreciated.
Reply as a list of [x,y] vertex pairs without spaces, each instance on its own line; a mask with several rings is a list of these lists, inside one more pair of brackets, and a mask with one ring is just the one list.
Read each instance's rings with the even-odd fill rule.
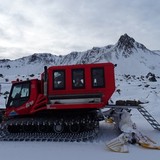
[[160,131],[160,124],[153,118],[153,116],[142,106],[138,106],[137,110],[148,121],[148,123],[154,128]]

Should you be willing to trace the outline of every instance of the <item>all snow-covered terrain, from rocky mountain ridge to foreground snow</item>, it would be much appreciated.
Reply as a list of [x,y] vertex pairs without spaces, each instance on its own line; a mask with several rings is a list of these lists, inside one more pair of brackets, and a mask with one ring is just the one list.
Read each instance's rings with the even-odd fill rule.
[[[113,62],[117,64],[116,91],[110,103],[116,100],[144,100],[145,108],[160,122],[160,51],[151,51],[136,42],[127,34],[122,35],[116,44],[93,47],[85,52],[72,52],[65,56],[49,53],[33,54],[16,60],[0,60],[0,108],[5,107],[6,92],[10,90],[10,81],[26,79],[36,75],[40,77],[44,65],[65,65],[76,63]],[[132,110],[132,120],[145,135],[160,144],[159,131],[145,121],[137,110]],[[93,142],[1,142],[3,159],[155,159],[160,157],[159,150],[147,150],[138,145],[129,145],[128,154],[113,153],[105,143],[117,137],[113,124],[100,124],[99,139]],[[10,153],[10,154],[8,154]],[[37,154],[38,153],[38,154]],[[63,153],[63,154],[62,154]],[[114,157],[114,158],[113,158]]]

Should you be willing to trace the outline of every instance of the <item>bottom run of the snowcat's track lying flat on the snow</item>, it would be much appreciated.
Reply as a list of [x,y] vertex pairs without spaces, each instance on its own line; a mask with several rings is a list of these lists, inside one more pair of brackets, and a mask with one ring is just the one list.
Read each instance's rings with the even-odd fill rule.
[[55,142],[80,142],[91,141],[97,136],[97,131],[88,131],[79,134],[72,133],[14,133],[1,135],[0,141],[55,141]]

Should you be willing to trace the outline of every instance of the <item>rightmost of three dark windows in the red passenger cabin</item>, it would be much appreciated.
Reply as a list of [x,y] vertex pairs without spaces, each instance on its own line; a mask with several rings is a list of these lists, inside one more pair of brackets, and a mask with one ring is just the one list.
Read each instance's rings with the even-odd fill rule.
[[91,77],[92,77],[93,88],[105,87],[104,68],[92,68]]

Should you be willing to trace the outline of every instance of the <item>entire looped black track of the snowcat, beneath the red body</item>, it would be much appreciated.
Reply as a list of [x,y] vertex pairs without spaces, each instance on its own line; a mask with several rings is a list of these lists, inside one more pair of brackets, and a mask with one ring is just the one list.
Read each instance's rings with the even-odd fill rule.
[[[79,121],[81,123],[82,119]],[[30,118],[19,118],[19,119],[10,119],[0,125],[0,141],[57,141],[57,142],[80,142],[80,141],[89,141],[94,139],[99,130],[99,123],[98,120],[93,119],[84,119],[83,122],[88,123],[90,121],[90,125],[94,125],[93,129],[84,130],[79,133],[71,133],[71,132],[64,132],[64,133],[55,133],[55,132],[47,132],[47,133],[39,133],[39,132],[33,132],[33,133],[24,133],[21,132],[20,128],[25,127],[27,125],[36,126],[40,124],[44,125],[55,125],[59,121],[47,121],[43,118],[38,119],[30,119]],[[73,123],[77,123],[77,121],[74,121],[74,119],[71,119],[67,121],[67,125],[71,125]],[[84,124],[85,124],[84,123]],[[84,125],[83,124],[83,125]],[[20,127],[18,128],[20,132],[17,133],[10,133],[8,130],[8,127]],[[15,129],[15,128],[14,128]]]

